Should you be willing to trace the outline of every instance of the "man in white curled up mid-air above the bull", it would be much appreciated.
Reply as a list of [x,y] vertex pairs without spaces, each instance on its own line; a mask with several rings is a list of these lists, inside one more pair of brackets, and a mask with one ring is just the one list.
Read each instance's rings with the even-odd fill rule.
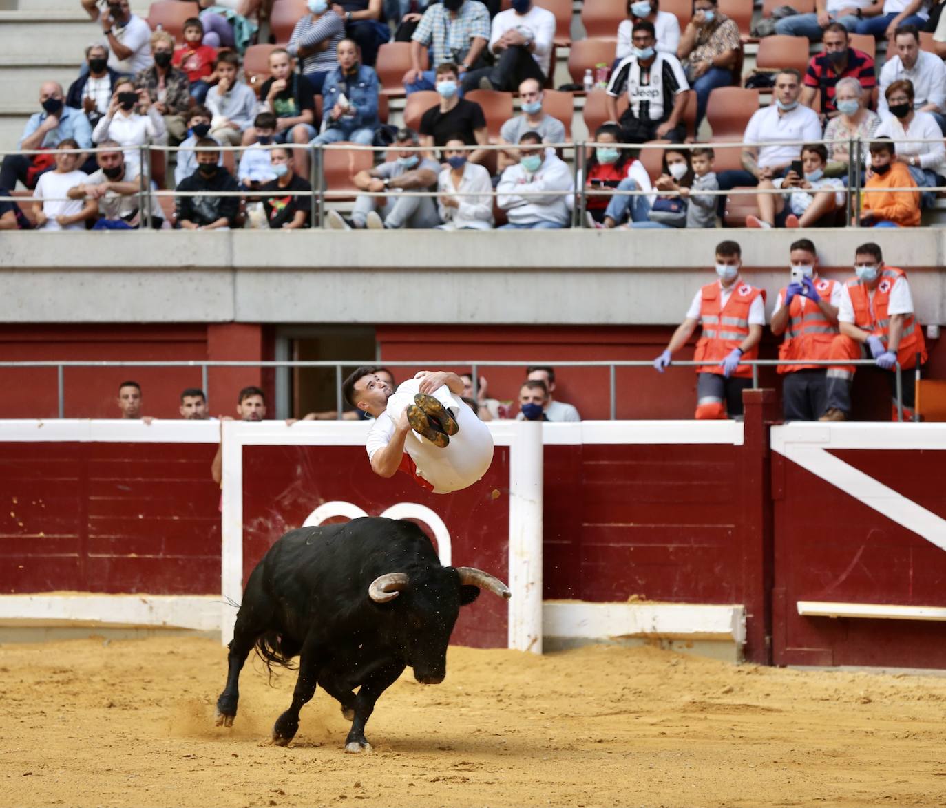
[[398,471],[434,494],[476,483],[493,461],[489,428],[460,397],[455,373],[421,371],[397,391],[374,369],[359,367],[342,384],[345,399],[372,415],[366,448],[379,477]]

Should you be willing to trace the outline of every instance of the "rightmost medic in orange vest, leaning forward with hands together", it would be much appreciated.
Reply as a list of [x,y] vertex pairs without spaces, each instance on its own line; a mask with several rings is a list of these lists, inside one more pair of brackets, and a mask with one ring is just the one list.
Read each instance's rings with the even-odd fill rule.
[[[849,278],[841,290],[838,307],[840,335],[831,346],[831,359],[859,360],[870,352],[877,366],[885,372],[893,397],[892,420],[897,420],[897,376],[894,366],[900,362],[910,370],[926,361],[926,342],[922,326],[913,313],[913,297],[906,272],[884,263],[881,248],[862,244],[854,255],[856,277]],[[844,421],[850,416],[850,382],[854,365],[832,367],[828,371],[828,412],[820,420]],[[914,374],[903,374],[903,418],[913,417]]]

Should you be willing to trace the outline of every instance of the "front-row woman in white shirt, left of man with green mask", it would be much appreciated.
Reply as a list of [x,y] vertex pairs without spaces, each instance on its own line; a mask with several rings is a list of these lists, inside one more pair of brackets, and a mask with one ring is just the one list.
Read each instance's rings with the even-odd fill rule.
[[493,181],[489,171],[470,163],[463,138],[447,140],[443,157],[447,163],[437,177],[437,212],[443,224],[438,230],[490,230],[493,227]]

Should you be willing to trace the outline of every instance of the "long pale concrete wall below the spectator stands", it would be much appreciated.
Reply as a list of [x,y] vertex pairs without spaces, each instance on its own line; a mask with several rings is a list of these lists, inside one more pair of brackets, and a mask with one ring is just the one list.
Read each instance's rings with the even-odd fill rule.
[[[745,278],[786,283],[796,231],[423,234],[331,231],[11,233],[0,323],[671,325],[713,275],[713,246],[743,247]],[[910,272],[924,324],[946,323],[937,229],[814,231],[826,274],[876,240]]]

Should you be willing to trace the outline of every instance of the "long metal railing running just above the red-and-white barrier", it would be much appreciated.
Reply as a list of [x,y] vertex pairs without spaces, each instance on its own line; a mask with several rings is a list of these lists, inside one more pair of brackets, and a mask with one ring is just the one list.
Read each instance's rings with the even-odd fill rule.
[[[368,360],[256,360],[256,361],[224,361],[224,360],[179,360],[179,361],[79,361],[79,360],[37,360],[37,361],[0,361],[0,368],[55,368],[58,389],[59,415],[63,418],[65,412],[65,378],[64,370],[67,367],[180,367],[180,368],[201,368],[201,390],[206,395],[208,368],[212,367],[253,367],[253,368],[334,368],[335,369],[335,400],[336,413],[341,414],[344,409],[342,398],[342,379],[344,378],[344,368],[354,370],[360,365],[384,365],[385,367],[417,367],[425,365],[427,367],[438,368],[469,368],[470,378],[473,380],[473,398],[477,397],[480,385],[480,369],[484,367],[517,367],[526,368],[531,365],[539,364],[539,360],[422,360],[422,361],[383,361],[375,362]],[[619,367],[638,367],[650,368],[653,370],[654,362],[651,360],[587,360],[587,361],[559,361],[553,360],[549,364],[554,364],[556,368],[580,367],[580,368],[606,368],[608,372],[608,402],[609,419],[616,420],[618,417],[618,393],[617,393],[617,369]],[[673,360],[671,366],[675,367],[707,367],[715,364],[707,361],[694,360]],[[779,365],[855,365],[860,367],[876,367],[874,360],[745,360],[741,365],[748,365],[752,368],[752,387],[759,387],[759,368],[778,367]],[[462,371],[465,373],[465,370]],[[900,362],[894,366],[896,376],[896,399],[897,399],[897,420],[903,420],[903,379]],[[917,420],[918,416],[914,415]]]

